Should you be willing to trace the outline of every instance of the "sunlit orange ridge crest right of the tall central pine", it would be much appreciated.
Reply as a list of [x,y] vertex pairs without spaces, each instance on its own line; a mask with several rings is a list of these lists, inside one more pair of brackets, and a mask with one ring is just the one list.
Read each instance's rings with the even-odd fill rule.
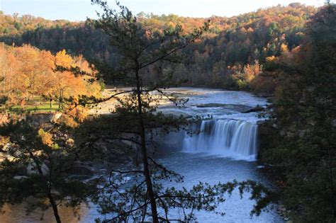
[[[289,6],[274,6],[271,8],[260,8],[257,11],[244,13],[239,16],[221,17],[211,16],[210,18],[181,17],[174,14],[157,16],[154,14],[138,13],[140,21],[150,28],[161,30],[162,28],[172,28],[180,24],[186,33],[202,25],[204,21],[211,20],[211,28],[208,33],[221,34],[223,31],[248,30],[271,27],[271,23],[279,26],[280,32],[302,28],[310,16],[315,13],[316,8],[303,4],[290,4]],[[274,27],[272,27],[274,28]],[[252,31],[250,29],[250,31]],[[215,35],[210,35],[215,36]]]

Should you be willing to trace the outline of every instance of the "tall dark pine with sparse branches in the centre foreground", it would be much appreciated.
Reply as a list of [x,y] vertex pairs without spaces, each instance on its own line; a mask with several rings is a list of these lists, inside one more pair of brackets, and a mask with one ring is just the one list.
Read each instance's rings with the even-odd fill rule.
[[[184,103],[174,96],[168,96],[162,91],[171,83],[170,75],[159,76],[150,85],[144,86],[142,76],[150,71],[150,68],[161,70],[160,62],[179,62],[179,51],[201,37],[208,23],[203,28],[194,30],[190,35],[183,35],[181,25],[170,27],[168,30],[154,32],[143,28],[138,18],[125,6],[118,4],[120,11],[108,8],[106,2],[92,1],[103,8],[103,14],[98,21],[93,21],[97,28],[103,29],[110,38],[111,45],[121,55],[118,66],[111,67],[108,64],[97,64],[101,74],[118,84],[128,84],[131,89],[116,91],[110,97],[82,98],[79,104],[88,105],[115,98],[120,105],[108,118],[94,120],[96,128],[91,134],[94,139],[104,139],[105,142],[114,144],[117,142],[130,143],[130,149],[140,151],[140,163],[135,159],[133,168],[126,170],[112,170],[107,177],[106,185],[96,198],[103,214],[112,213],[111,219],[103,219],[103,222],[127,222],[132,219],[135,222],[144,222],[151,219],[152,222],[169,222],[179,220],[189,222],[195,219],[194,210],[207,210],[216,212],[219,202],[224,201],[225,193],[232,193],[236,187],[240,192],[251,191],[252,198],[258,205],[256,212],[269,203],[269,191],[254,182],[218,183],[208,185],[199,183],[193,189],[164,188],[159,181],[183,181],[183,178],[174,171],[155,161],[155,144],[150,134],[169,132],[186,123],[186,120],[166,116],[156,111],[159,99],[169,98],[176,104]],[[153,93],[153,92],[156,92]],[[85,127],[84,129],[90,129]],[[89,143],[90,144],[90,143]],[[91,143],[92,144],[92,143]],[[125,148],[125,145],[122,146]],[[138,153],[135,153],[138,154]],[[123,176],[133,176],[135,185],[127,187],[123,185]],[[183,219],[172,219],[169,212],[179,208],[184,211]],[[187,212],[189,210],[189,212]],[[218,212],[220,213],[220,212]]]

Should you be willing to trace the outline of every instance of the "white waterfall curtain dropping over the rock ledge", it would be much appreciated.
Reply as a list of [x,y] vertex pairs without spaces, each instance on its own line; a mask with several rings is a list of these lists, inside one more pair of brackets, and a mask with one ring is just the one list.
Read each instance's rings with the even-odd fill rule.
[[184,137],[184,151],[210,152],[237,159],[257,158],[257,125],[242,120],[202,120],[197,135]]

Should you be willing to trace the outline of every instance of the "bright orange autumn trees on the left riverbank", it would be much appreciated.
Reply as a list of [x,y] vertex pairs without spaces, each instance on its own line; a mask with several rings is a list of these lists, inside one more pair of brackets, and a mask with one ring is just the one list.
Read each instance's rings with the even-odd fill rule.
[[[87,75],[76,76],[57,67],[79,67]],[[65,50],[52,55],[30,45],[0,45],[1,103],[23,106],[25,101],[39,96],[50,101],[50,105],[52,101],[57,101],[61,108],[65,98],[98,95],[100,85],[87,81],[94,76],[94,69],[82,56],[71,57]]]

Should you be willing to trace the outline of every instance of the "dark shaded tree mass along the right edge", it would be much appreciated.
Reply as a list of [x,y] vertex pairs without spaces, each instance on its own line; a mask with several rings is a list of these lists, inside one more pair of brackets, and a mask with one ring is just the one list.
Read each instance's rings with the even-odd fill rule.
[[282,64],[274,115],[282,143],[263,154],[284,171],[282,199],[300,221],[336,219],[336,6],[307,24],[295,60]]

